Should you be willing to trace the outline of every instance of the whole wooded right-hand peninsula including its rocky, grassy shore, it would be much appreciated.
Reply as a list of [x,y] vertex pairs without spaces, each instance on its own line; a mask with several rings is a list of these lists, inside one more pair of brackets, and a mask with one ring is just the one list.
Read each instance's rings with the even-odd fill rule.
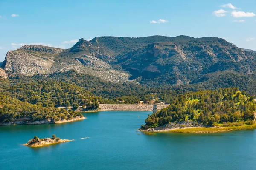
[[256,103],[238,88],[190,92],[148,115],[142,131],[214,133],[255,129]]

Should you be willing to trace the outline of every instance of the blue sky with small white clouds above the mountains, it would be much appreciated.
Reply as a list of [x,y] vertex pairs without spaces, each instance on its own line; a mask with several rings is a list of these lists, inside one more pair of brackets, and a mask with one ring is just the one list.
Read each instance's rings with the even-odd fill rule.
[[256,50],[256,0],[0,0],[0,61],[24,44],[70,48],[79,38],[225,38]]

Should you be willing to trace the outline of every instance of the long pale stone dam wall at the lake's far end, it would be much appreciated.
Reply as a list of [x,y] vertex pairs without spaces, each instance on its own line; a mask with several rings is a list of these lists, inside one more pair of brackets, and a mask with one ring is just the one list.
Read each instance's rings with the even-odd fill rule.
[[[157,109],[166,108],[169,105],[157,105]],[[100,104],[99,111],[153,111],[153,105],[112,105]]]

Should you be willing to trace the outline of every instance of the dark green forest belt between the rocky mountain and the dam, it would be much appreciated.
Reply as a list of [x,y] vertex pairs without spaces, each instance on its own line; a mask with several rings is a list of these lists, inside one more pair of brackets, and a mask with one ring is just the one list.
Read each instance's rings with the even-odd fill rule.
[[[177,89],[173,91],[170,87],[151,88],[136,82],[107,82],[99,77],[78,74],[75,71],[50,74],[47,77],[41,75],[33,77],[12,75],[9,80],[0,80],[4,82],[0,85],[13,86],[18,83],[38,82],[39,80],[56,82],[56,79],[84,88],[94,96],[98,96],[99,102],[102,104],[137,104],[140,100],[151,101],[156,98],[159,98],[161,102],[169,103],[174,97],[183,93],[183,91]],[[70,103],[70,105],[72,104]]]

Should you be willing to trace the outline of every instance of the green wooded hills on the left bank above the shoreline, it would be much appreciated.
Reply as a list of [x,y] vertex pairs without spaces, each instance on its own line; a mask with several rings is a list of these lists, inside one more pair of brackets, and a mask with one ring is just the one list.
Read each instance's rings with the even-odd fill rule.
[[95,101],[93,94],[84,88],[63,82],[38,81],[18,83],[0,88],[0,122],[13,122],[17,119],[51,122],[82,117],[72,110],[54,106],[67,106],[68,103],[86,105]]

